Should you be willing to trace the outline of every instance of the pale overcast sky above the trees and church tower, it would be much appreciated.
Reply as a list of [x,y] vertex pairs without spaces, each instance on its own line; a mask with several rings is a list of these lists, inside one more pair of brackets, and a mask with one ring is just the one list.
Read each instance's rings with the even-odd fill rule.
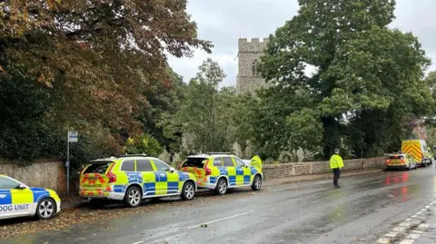
[[[193,58],[170,57],[176,73],[188,82],[203,60],[211,57],[222,66],[234,85],[237,75],[238,38],[268,37],[297,14],[297,0],[188,0],[188,13],[198,25],[199,37],[213,42],[213,54],[197,51]],[[397,0],[392,27],[418,36],[436,69],[436,0]]]

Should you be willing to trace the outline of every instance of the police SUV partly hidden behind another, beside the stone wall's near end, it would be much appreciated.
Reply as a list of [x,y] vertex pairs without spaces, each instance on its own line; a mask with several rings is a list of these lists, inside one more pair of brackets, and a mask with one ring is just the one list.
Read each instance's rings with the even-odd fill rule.
[[193,173],[199,188],[214,190],[219,195],[229,188],[251,186],[252,190],[261,190],[263,181],[261,169],[249,166],[228,152],[188,156],[180,171]]

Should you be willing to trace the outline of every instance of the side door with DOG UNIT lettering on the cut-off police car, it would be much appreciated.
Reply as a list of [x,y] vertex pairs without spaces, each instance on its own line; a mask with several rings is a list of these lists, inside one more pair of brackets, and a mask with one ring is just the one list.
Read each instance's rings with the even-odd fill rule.
[[33,191],[20,189],[20,185],[19,181],[0,177],[0,218],[35,214]]

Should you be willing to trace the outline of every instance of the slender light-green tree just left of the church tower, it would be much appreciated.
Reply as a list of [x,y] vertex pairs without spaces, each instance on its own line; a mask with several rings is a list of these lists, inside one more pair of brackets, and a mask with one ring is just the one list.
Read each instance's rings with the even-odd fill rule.
[[175,118],[167,122],[166,135],[175,132],[193,136],[193,151],[219,151],[225,138],[221,132],[222,114],[218,108],[219,84],[225,73],[218,63],[207,59],[186,87],[185,99]]

